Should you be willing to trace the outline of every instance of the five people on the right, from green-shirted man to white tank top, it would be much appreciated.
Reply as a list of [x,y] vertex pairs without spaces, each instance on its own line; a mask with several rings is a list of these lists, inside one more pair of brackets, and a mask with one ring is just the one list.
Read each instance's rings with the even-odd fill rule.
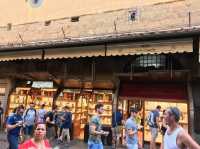
[[[95,106],[96,115],[90,120],[90,136],[88,140],[88,149],[103,149],[101,141],[102,135],[108,135],[108,132],[101,129],[101,117],[103,113],[103,105],[97,104]],[[160,149],[200,149],[200,146],[191,138],[191,136],[179,125],[181,112],[177,107],[170,107],[163,110],[163,123],[160,126],[161,106],[157,106],[155,110],[152,110],[147,118],[147,124],[151,131],[150,149],[157,149],[156,138],[158,132],[163,134],[163,141],[160,145]],[[119,110],[113,113],[113,145],[114,148],[118,148],[118,142],[120,138],[120,127],[125,128],[126,133],[126,148],[127,149],[139,149],[143,148],[139,143],[138,130],[142,129],[138,123],[138,109],[132,107],[130,109],[130,117],[124,122],[122,121],[122,114]]]

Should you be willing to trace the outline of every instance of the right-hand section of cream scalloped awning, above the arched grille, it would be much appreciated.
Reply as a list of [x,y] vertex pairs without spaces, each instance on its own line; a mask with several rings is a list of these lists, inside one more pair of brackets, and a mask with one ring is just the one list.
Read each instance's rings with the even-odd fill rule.
[[157,40],[148,42],[111,44],[107,48],[107,56],[188,53],[193,51],[192,38]]

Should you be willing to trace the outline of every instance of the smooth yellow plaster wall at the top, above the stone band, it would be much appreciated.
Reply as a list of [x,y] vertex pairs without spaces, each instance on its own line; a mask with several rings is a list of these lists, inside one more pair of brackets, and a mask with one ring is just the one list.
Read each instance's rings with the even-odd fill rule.
[[32,7],[29,0],[1,0],[0,26],[8,23],[23,24],[171,1],[180,0],[43,0],[42,5],[37,8]]

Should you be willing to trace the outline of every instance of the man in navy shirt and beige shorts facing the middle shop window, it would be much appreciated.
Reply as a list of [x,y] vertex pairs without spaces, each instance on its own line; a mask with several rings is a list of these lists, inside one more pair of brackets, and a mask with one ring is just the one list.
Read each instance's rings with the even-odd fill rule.
[[69,107],[63,107],[64,114],[61,117],[62,120],[62,133],[60,139],[63,141],[67,137],[67,143],[70,143],[70,129],[72,127],[72,113],[69,111]]

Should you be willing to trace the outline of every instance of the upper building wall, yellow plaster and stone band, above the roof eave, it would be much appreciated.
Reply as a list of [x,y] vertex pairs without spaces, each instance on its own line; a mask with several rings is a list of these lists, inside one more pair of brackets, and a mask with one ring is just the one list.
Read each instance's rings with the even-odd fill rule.
[[[1,45],[181,29],[198,26],[200,20],[197,0],[88,0],[84,4],[63,0],[42,1],[38,7],[29,1],[10,2],[10,9],[1,9]],[[1,3],[0,7],[10,4]]]

